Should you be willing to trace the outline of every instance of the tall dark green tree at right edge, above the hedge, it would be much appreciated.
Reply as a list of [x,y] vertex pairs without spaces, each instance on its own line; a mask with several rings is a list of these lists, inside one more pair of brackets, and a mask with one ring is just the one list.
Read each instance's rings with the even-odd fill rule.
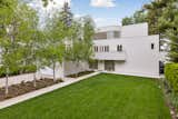
[[178,62],[178,1],[169,0],[158,21],[161,37],[170,40],[170,61]]

